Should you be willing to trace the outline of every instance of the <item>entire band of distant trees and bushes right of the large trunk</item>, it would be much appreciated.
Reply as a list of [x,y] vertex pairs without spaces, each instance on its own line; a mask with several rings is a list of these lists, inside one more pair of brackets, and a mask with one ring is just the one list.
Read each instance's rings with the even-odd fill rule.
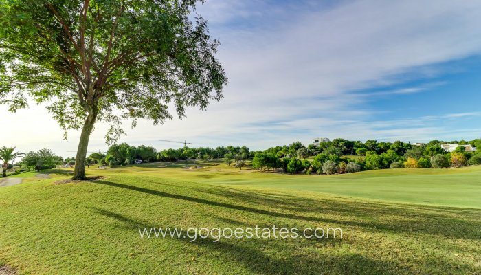
[[[107,155],[93,153],[89,156],[90,164],[109,166],[133,164],[139,159],[144,162],[172,162],[186,159],[224,159],[227,164],[238,162],[242,168],[246,160],[251,160],[254,168],[270,170],[282,168],[288,173],[351,173],[359,170],[384,168],[445,168],[459,167],[465,164],[481,164],[479,152],[467,152],[460,146],[454,152],[447,152],[441,144],[470,144],[481,148],[481,139],[454,140],[444,142],[432,140],[427,144],[396,142],[366,142],[337,138],[304,146],[301,142],[275,146],[264,151],[251,151],[246,146],[219,146],[216,148],[168,148],[156,151],[151,146],[130,146],[126,143],[109,147]],[[357,157],[355,157],[357,155]],[[68,160],[68,159],[67,159]],[[74,161],[74,159],[71,159]]]

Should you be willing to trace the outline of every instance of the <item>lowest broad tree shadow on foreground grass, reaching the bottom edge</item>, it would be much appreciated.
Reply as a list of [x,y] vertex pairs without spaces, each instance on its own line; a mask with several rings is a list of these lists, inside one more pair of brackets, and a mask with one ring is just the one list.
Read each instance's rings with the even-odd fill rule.
[[[142,221],[136,221],[123,214],[105,210],[102,208],[91,208],[98,214],[105,217],[112,217],[118,219],[124,224],[123,230],[132,230],[137,234],[139,225],[145,224]],[[232,219],[226,219],[225,222],[238,225],[239,222]],[[248,224],[245,224],[248,225]],[[164,225],[164,228],[175,228],[175,225]],[[194,253],[194,258],[201,256],[204,261],[210,261],[209,257],[216,258],[215,262],[209,262],[209,266],[216,266],[217,272],[233,272],[237,263],[243,269],[252,272],[253,274],[422,274],[423,272],[438,273],[443,270],[445,274],[460,274],[461,270],[473,270],[471,265],[466,263],[454,263],[449,259],[438,259],[426,256],[426,259],[418,259],[415,263],[404,263],[403,261],[395,260],[381,260],[374,259],[372,256],[367,256],[359,252],[342,252],[339,250],[328,249],[314,245],[311,240],[304,239],[304,242],[299,239],[220,239],[216,241],[211,236],[205,238],[198,238],[192,241],[186,238],[186,233],[180,237],[170,238],[170,240],[178,242],[181,248],[188,248],[192,245],[196,252],[192,249],[186,250],[188,253]],[[148,242],[153,242],[153,245],[158,245],[158,242],[164,242],[162,238],[140,239],[142,246],[149,245]],[[137,243],[134,243],[138,247]],[[198,250],[197,248],[205,248]],[[196,256],[197,254],[197,256]],[[148,257],[148,255],[146,255]],[[190,259],[190,258],[189,258]],[[194,264],[194,259],[190,262],[190,267]],[[434,263],[436,268],[433,270]],[[198,268],[205,268],[199,264]],[[161,267],[160,267],[161,268]],[[435,270],[438,270],[437,272]],[[183,272],[183,270],[178,270]],[[191,270],[192,271],[192,270]],[[203,271],[205,272],[205,270]],[[452,272],[452,273],[451,273]],[[202,271],[200,272],[202,273]],[[476,273],[473,273],[476,274]]]

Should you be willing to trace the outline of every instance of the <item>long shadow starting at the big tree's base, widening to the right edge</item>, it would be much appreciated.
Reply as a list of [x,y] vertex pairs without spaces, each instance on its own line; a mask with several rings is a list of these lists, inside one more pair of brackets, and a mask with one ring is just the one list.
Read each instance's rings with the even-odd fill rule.
[[[209,199],[202,199],[199,197],[173,194],[170,192],[153,190],[128,184],[120,184],[111,181],[100,180],[95,182],[98,184],[124,188],[136,192],[143,192],[159,197],[181,199],[183,201],[202,203],[205,205],[217,206],[221,208],[229,208],[232,210],[239,210],[252,214],[265,214],[270,217],[278,217],[282,219],[298,219],[317,223],[350,225],[363,228],[365,230],[370,230],[372,232],[405,232],[408,234],[417,232],[421,234],[433,234],[450,238],[457,237],[462,239],[474,239],[476,241],[481,238],[481,214],[476,213],[469,216],[466,216],[465,214],[464,218],[468,219],[465,220],[456,217],[456,214],[453,215],[451,213],[447,215],[443,213],[443,208],[425,206],[425,208],[427,209],[438,211],[436,212],[437,214],[435,214],[434,212],[413,210],[410,208],[410,206],[402,206],[396,204],[386,205],[385,203],[377,204],[366,202],[353,203],[346,200],[341,201],[335,199],[317,201],[304,197],[286,197],[280,200],[271,199],[271,197],[262,197],[262,195],[256,194],[254,192],[229,190],[228,188],[218,188],[218,190],[216,191],[209,192],[212,193],[211,195],[216,195],[217,197],[223,198],[223,201],[225,201],[225,198],[230,199],[231,201],[234,200],[234,203],[227,203],[220,200],[214,201]],[[183,186],[176,187],[179,188],[179,190],[183,188]],[[206,192],[205,188],[201,187],[199,187],[197,191]],[[256,199],[253,200],[252,197]],[[314,217],[302,214],[292,214],[282,210],[265,210],[250,206],[241,206],[236,204],[237,201],[238,203],[249,203],[256,206],[268,206],[269,208],[274,209],[282,208],[281,206],[288,204],[298,207],[296,209],[298,211],[309,212],[317,215],[322,215],[324,213],[328,213],[329,215],[334,214],[336,215],[336,217],[339,218],[328,218],[326,217],[326,214],[324,214],[323,217]]]

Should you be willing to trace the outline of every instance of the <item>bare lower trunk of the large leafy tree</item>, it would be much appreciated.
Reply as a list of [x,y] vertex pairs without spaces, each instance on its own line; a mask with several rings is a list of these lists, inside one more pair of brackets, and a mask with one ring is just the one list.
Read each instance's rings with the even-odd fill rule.
[[75,158],[74,180],[85,180],[85,159],[87,158],[87,147],[89,147],[89,138],[92,133],[93,125],[96,123],[97,113],[89,113],[82,128],[80,141],[78,142],[77,155]]

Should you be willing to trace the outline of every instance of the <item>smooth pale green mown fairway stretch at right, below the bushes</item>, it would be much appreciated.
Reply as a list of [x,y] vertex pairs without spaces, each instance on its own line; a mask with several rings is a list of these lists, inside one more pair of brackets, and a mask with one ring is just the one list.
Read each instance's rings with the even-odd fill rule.
[[346,175],[249,175],[205,182],[327,192],[405,203],[481,208],[481,168],[386,169]]

